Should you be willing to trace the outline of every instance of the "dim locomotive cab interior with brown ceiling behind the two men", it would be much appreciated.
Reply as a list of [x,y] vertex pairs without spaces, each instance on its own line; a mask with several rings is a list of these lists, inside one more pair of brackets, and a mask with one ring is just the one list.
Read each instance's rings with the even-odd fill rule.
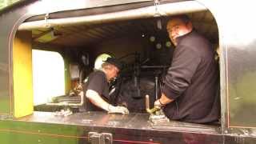
[[[218,30],[210,12],[191,13],[189,16],[195,29],[206,35],[217,49]],[[106,58],[114,57],[122,61],[124,68],[118,78],[110,83],[110,103],[127,106],[130,112],[146,113],[145,95],[150,95],[152,107],[162,93],[166,70],[172,60],[174,46],[166,32],[168,19],[156,17],[101,24],[74,23],[72,26],[32,30],[34,51],[40,53],[41,50],[47,50],[60,54],[65,70],[59,71],[66,75],[65,92],[48,98],[46,103],[39,102],[34,110],[58,111],[66,106],[74,112],[81,111],[84,99],[79,92],[82,91],[86,77],[93,70],[100,69]],[[35,62],[37,58],[40,57],[34,56]],[[51,70],[56,68],[54,62],[43,65],[46,66],[44,70],[56,71]],[[34,79],[39,77],[43,75]],[[44,87],[47,85],[42,86],[42,89]],[[34,95],[34,98],[37,96]]]

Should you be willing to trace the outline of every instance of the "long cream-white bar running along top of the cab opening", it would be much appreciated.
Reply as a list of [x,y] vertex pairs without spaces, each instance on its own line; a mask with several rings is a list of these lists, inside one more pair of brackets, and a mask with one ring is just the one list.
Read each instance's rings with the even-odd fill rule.
[[130,20],[138,18],[153,18],[158,16],[169,16],[174,14],[185,14],[207,10],[196,1],[174,2],[158,6],[156,14],[155,6],[147,6],[134,10],[124,10],[120,12],[97,14],[90,16],[74,18],[47,19],[35,22],[24,22],[18,27],[18,30],[34,30],[38,28],[47,28],[54,26],[75,26],[82,24],[99,24],[105,22],[116,22],[121,20]]

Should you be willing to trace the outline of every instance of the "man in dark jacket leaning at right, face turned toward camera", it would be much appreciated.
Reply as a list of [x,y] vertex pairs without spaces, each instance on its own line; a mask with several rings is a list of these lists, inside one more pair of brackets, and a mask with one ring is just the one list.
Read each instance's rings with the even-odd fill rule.
[[166,29],[176,48],[162,96],[154,106],[162,107],[166,116],[173,120],[218,121],[219,71],[218,62],[214,60],[214,47],[193,30],[186,15],[171,18]]

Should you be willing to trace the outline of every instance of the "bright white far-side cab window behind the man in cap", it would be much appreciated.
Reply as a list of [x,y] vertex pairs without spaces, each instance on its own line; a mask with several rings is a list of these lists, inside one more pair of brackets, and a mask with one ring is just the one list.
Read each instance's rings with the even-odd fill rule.
[[[32,50],[34,106],[65,94],[64,61],[52,51]],[[50,80],[50,81],[49,81]]]

